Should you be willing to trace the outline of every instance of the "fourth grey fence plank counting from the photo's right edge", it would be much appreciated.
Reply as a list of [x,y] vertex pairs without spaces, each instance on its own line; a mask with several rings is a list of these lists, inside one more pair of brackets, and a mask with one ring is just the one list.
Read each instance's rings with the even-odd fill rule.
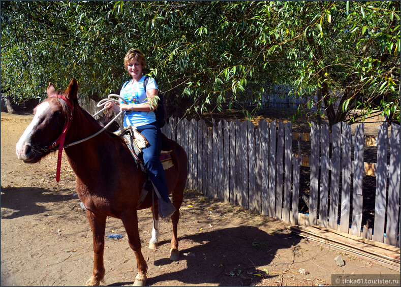
[[343,178],[341,184],[341,217],[340,231],[349,232],[350,222],[350,193],[351,193],[351,126],[342,123],[343,133]]

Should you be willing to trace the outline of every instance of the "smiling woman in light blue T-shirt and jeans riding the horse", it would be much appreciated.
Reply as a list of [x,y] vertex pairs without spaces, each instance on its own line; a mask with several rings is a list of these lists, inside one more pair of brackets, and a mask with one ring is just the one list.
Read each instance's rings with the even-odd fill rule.
[[[124,111],[124,126],[133,125],[149,142],[148,146],[142,149],[144,166],[149,178],[161,195],[158,199],[159,214],[162,218],[171,216],[175,207],[168,197],[166,177],[160,162],[161,134],[160,127],[156,120],[155,112],[157,101],[152,100],[158,95],[158,86],[153,78],[149,78],[144,89],[145,77],[142,70],[146,66],[146,60],[141,50],[131,49],[124,58],[124,68],[132,76],[132,80],[126,82],[120,91],[120,96],[127,104],[114,102],[107,103],[107,110],[114,112]],[[158,195],[158,193],[156,193]]]

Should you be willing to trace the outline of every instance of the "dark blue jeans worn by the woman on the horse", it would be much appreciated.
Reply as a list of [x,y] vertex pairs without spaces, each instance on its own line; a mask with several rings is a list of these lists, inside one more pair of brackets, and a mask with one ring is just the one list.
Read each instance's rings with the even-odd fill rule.
[[169,201],[166,175],[163,165],[160,162],[160,152],[162,150],[162,132],[160,131],[157,121],[137,126],[138,132],[141,133],[149,145],[142,149],[143,163],[147,169],[150,180],[155,184],[160,195],[165,201]]

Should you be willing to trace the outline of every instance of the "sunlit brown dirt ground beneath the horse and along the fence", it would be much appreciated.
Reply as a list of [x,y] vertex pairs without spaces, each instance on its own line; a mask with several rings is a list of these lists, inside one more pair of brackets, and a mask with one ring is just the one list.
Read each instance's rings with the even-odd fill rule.
[[[93,266],[92,235],[75,175],[64,156],[60,182],[55,181],[55,153],[35,165],[19,161],[15,145],[32,116],[1,116],[1,285],[84,285]],[[279,220],[194,190],[184,193],[180,214],[180,260],[171,262],[170,219],[161,220],[161,244],[152,250],[147,248],[150,210],[138,211],[147,285],[315,286],[330,285],[331,274],[399,274],[313,244]],[[105,242],[106,285],[131,285],[136,260],[120,220],[108,218]],[[338,254],[344,267],[334,263]],[[308,274],[300,274],[301,268]]]

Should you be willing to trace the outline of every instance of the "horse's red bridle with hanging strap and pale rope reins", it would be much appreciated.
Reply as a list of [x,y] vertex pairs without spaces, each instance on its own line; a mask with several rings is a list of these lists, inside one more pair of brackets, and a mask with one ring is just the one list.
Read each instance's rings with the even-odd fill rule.
[[[117,100],[110,99],[110,97],[118,97],[118,98],[122,99],[122,98],[121,98],[119,95],[117,95],[117,94],[109,94],[108,99],[104,99],[104,100],[102,100],[102,101],[100,101],[100,102],[98,103],[98,107],[100,107],[100,106],[102,106],[102,105],[105,105],[106,103],[108,103],[108,102],[110,102],[110,101],[118,102]],[[44,151],[44,152],[47,152],[47,151],[49,151],[49,150],[50,150],[50,151],[53,151],[53,150],[56,149],[56,147],[57,147],[57,145],[58,145],[57,169],[56,169],[56,181],[58,182],[58,181],[60,181],[61,155],[63,154],[63,148],[67,148],[67,147],[69,147],[69,146],[79,144],[79,143],[81,143],[81,142],[84,142],[84,141],[86,141],[86,140],[88,140],[88,139],[91,139],[91,138],[93,138],[93,137],[99,135],[99,134],[102,133],[104,130],[106,130],[107,127],[108,127],[118,116],[120,116],[122,113],[124,113],[124,111],[120,111],[120,112],[119,112],[107,125],[105,125],[105,126],[103,127],[103,129],[101,129],[99,132],[97,132],[97,133],[95,133],[95,134],[93,134],[93,135],[91,135],[91,136],[89,136],[89,137],[86,137],[86,138],[84,138],[84,139],[82,139],[82,140],[79,140],[79,141],[76,141],[76,142],[73,142],[73,143],[64,145],[64,141],[65,141],[65,139],[66,139],[66,134],[67,134],[68,130],[70,129],[71,122],[72,122],[72,115],[73,115],[73,112],[74,112],[74,104],[73,104],[70,100],[68,100],[66,97],[64,97],[64,95],[60,95],[60,94],[52,94],[52,95],[49,96],[49,98],[59,98],[59,99],[61,99],[61,100],[64,100],[64,101],[67,103],[67,105],[70,107],[70,113],[69,113],[69,115],[67,116],[66,122],[65,122],[64,127],[63,127],[63,132],[61,132],[61,135],[60,135],[52,144],[50,144],[50,145],[45,146],[45,147],[42,148],[42,151]],[[124,99],[123,99],[123,101],[124,101]],[[124,101],[124,102],[125,102],[125,101]],[[102,112],[102,111],[105,110],[105,109],[106,109],[106,108],[100,110],[99,112],[97,112],[97,113],[96,113],[95,115],[93,115],[93,116],[96,116],[97,114],[99,114],[100,112]]]

